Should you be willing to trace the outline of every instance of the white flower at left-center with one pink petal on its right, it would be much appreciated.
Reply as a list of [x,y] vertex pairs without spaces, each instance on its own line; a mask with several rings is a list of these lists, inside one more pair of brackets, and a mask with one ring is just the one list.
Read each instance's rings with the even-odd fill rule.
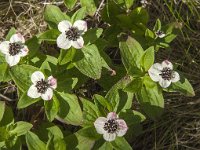
[[35,71],[31,75],[33,84],[30,86],[27,95],[31,98],[42,97],[43,100],[50,100],[53,97],[53,89],[57,88],[57,80],[50,76],[45,80],[44,74],[40,71]]

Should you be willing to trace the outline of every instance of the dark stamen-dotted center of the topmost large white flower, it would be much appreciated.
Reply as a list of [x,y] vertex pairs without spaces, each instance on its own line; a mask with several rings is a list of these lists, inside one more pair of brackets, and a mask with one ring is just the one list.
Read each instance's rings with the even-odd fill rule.
[[76,41],[80,36],[81,32],[78,30],[78,28],[71,27],[68,31],[65,32],[66,38],[70,41]]

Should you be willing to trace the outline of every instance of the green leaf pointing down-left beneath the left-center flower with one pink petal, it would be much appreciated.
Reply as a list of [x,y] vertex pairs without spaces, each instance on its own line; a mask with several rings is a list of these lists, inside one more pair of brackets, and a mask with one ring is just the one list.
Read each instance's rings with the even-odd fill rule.
[[39,100],[41,99],[40,98],[33,99],[27,95],[27,92],[24,92],[17,103],[17,108],[18,109],[26,108],[31,104],[38,102]]

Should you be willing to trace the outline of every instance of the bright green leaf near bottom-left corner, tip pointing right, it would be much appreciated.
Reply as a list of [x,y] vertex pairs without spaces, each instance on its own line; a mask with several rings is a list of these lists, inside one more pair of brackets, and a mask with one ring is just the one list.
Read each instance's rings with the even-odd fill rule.
[[13,130],[9,131],[10,134],[21,136],[26,134],[33,127],[33,125],[28,122],[19,121],[14,124],[14,127],[15,128]]

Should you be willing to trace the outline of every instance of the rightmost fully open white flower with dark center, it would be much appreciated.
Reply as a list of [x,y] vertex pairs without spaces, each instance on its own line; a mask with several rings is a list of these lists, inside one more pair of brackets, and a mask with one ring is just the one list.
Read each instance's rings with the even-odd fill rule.
[[173,65],[168,60],[160,63],[155,63],[148,70],[149,76],[155,82],[159,82],[160,86],[167,88],[171,82],[180,80],[178,72],[173,71]]

